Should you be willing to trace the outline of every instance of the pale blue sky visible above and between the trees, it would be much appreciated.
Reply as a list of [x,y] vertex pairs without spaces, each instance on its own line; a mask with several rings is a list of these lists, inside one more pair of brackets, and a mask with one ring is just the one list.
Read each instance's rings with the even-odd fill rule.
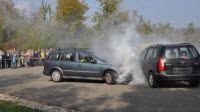
[[[15,5],[29,11],[34,11],[40,5],[40,0],[13,0]],[[56,0],[48,0],[56,6]],[[24,3],[26,2],[26,3]],[[95,0],[85,0],[90,7],[87,16],[91,17],[99,8]],[[140,15],[152,23],[170,23],[175,28],[186,27],[193,22],[196,27],[200,27],[200,0],[124,0],[123,9],[137,10]],[[28,8],[27,7],[27,8]],[[91,25],[91,18],[87,20]]]

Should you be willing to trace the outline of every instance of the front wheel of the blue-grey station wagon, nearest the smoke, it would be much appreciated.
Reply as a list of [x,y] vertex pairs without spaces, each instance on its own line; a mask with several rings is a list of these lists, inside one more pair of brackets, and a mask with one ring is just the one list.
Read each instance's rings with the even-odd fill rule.
[[109,85],[113,85],[116,83],[116,72],[112,71],[112,70],[108,70],[106,73],[105,73],[105,81],[107,84]]

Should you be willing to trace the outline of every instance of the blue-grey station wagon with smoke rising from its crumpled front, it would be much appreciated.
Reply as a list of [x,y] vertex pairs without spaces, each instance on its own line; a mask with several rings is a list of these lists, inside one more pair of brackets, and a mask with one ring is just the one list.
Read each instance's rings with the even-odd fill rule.
[[[58,50],[48,54],[43,74],[55,82],[66,77],[101,78],[107,84],[115,84],[119,74],[117,67],[107,64],[89,50]],[[129,82],[129,75],[124,82]]]

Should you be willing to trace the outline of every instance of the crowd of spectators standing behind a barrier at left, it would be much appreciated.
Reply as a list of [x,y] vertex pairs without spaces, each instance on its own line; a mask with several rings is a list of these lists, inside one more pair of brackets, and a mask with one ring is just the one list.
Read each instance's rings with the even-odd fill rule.
[[3,51],[0,49],[0,69],[43,66],[45,57],[54,49],[28,49],[18,52],[15,48]]

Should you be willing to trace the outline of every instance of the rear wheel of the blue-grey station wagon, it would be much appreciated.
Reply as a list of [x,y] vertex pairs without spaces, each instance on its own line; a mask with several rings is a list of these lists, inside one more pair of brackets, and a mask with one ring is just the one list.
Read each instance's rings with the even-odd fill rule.
[[63,80],[63,75],[62,75],[62,73],[59,70],[54,70],[51,73],[51,79],[54,82],[61,82]]

